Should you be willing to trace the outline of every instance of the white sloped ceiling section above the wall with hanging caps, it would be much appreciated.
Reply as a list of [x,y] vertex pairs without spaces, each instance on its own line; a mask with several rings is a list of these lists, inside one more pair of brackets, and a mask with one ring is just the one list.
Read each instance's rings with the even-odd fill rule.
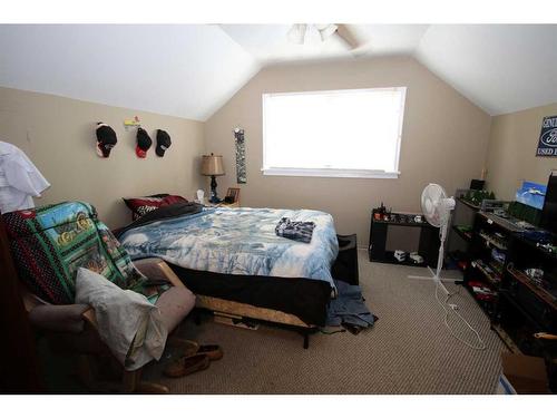
[[0,86],[189,119],[258,70],[214,25],[0,26]]

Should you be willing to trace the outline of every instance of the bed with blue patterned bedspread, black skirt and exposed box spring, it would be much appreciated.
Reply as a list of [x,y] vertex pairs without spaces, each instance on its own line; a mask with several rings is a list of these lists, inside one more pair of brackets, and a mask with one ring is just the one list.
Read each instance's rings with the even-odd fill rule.
[[[282,217],[314,222],[312,241],[276,236]],[[150,212],[118,237],[133,260],[165,260],[199,308],[303,329],[325,323],[339,253],[328,213],[180,203]]]

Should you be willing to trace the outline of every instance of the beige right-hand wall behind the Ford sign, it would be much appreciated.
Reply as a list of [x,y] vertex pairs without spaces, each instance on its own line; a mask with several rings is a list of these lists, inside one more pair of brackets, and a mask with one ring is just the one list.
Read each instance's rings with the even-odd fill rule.
[[557,104],[492,118],[487,157],[487,187],[497,197],[515,200],[522,181],[547,184],[557,158],[536,157],[541,119],[557,115]]

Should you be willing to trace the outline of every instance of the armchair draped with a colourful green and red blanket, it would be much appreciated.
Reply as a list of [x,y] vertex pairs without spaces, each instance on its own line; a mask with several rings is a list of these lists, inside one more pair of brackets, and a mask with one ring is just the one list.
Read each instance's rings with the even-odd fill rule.
[[[154,303],[170,333],[195,305],[194,294],[170,268],[159,259],[131,263],[114,235],[97,220],[95,208],[85,203],[67,202],[2,216],[30,323],[41,330],[55,351],[78,356],[78,376],[86,387],[101,392],[168,392],[162,385],[143,382],[140,369],[127,371],[119,364],[100,340],[95,311],[72,303],[71,291],[57,286],[62,281],[61,288],[71,288],[79,266],[97,269],[120,286],[129,273],[133,280],[128,284],[134,290],[147,290],[146,295],[156,300]],[[87,249],[81,251],[81,246]],[[41,249],[47,250],[42,253]],[[77,255],[65,257],[71,252]],[[55,270],[59,272],[57,278],[52,276]],[[47,298],[51,300],[46,301]]]

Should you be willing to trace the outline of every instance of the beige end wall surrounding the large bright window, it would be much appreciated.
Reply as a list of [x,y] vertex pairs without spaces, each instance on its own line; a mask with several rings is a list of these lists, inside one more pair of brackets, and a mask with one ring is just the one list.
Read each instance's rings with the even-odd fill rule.
[[[408,87],[400,178],[262,175],[262,94],[393,86]],[[455,193],[480,176],[490,117],[411,58],[270,67],[205,124],[206,152],[224,156],[221,194],[236,185],[236,126],[245,129],[246,137],[247,184],[240,186],[242,205],[322,210],[334,216],[339,233],[355,232],[360,245],[367,245],[373,206],[384,202],[397,211],[419,211],[428,183],[440,183]]]

